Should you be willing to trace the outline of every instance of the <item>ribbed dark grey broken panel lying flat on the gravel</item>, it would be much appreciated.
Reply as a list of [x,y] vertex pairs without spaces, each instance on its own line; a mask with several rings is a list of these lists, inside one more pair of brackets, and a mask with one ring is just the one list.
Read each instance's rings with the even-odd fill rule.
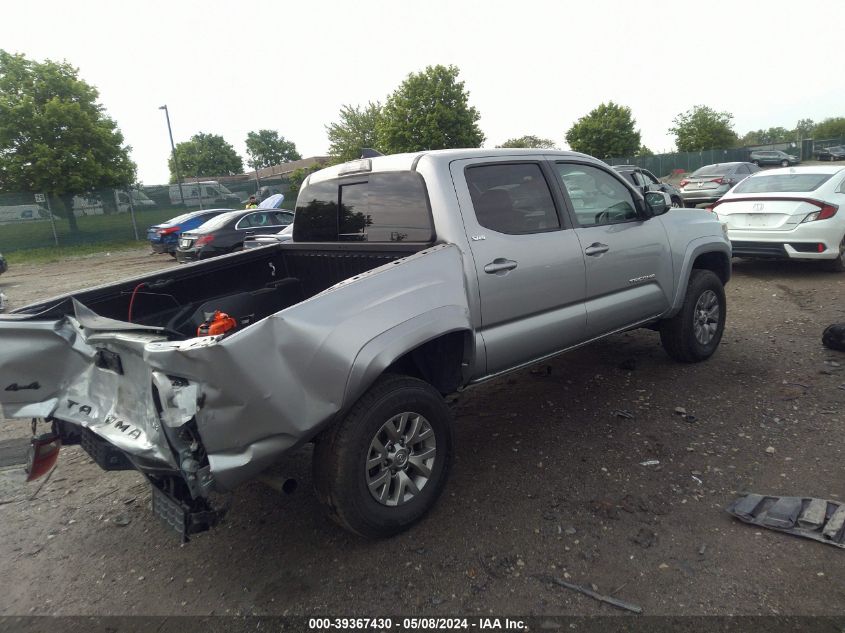
[[839,501],[749,494],[726,510],[745,523],[845,548],[845,504]]

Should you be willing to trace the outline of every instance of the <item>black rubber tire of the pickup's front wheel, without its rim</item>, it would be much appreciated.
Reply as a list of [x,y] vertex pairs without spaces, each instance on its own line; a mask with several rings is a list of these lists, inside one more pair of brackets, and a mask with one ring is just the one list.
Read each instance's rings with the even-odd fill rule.
[[[697,308],[700,307],[699,302],[710,298],[708,293],[715,296],[719,310],[714,323],[716,329],[711,333],[712,338],[702,342],[696,338],[695,326],[700,316]],[[660,342],[663,349],[669,356],[682,363],[707,360],[722,340],[725,314],[725,288],[722,281],[712,271],[693,269],[681,310],[660,324]]]

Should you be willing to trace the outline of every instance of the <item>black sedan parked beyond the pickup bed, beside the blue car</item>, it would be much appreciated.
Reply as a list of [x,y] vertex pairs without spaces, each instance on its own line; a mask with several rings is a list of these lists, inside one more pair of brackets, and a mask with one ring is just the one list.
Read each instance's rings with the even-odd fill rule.
[[293,222],[293,212],[282,209],[230,211],[211,218],[198,229],[182,233],[176,260],[190,262],[243,250],[253,235],[278,233]]

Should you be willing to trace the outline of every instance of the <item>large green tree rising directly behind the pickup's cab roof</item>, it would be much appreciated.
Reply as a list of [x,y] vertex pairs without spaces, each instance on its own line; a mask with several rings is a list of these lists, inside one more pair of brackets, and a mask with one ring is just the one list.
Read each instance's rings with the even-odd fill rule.
[[469,105],[457,66],[428,66],[411,73],[387,98],[376,124],[384,152],[481,147],[478,110]]

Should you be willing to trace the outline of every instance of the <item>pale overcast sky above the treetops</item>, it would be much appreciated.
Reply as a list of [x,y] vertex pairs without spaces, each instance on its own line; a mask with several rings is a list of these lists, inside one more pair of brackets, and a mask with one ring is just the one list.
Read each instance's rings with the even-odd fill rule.
[[845,116],[841,51],[818,45],[843,23],[841,0],[42,0],[4,3],[0,47],[77,66],[156,184],[164,103],[177,143],[221,134],[245,156],[247,132],[270,128],[310,156],[341,105],[383,101],[438,63],[461,69],[487,146],[535,134],[566,148],[572,123],[608,100],[656,152],[697,104],[733,113],[740,134]]

